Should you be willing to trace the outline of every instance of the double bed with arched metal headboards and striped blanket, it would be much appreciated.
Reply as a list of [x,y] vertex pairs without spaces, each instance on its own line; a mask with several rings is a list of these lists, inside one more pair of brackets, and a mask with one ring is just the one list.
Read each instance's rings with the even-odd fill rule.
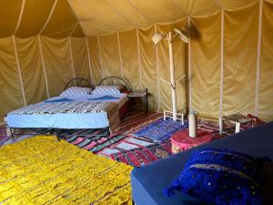
[[[75,78],[66,84],[69,87],[83,85],[84,78]],[[126,113],[127,94],[131,85],[120,77],[106,77],[97,87],[106,85],[123,87],[121,93],[73,95],[51,97],[43,102],[19,108],[7,114],[8,128],[107,128],[116,130],[120,118]],[[15,134],[12,132],[12,135]]]

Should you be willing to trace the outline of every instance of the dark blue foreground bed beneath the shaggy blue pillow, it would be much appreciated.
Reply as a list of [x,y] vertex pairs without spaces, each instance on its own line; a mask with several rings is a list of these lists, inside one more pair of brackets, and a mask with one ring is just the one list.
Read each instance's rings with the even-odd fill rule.
[[[239,132],[227,138],[218,139],[196,149],[201,148],[233,149],[257,157],[267,156],[273,159],[273,122]],[[167,159],[162,159],[150,165],[133,169],[131,174],[132,197],[136,204],[202,204],[187,195],[177,194],[175,197],[166,198],[162,194],[162,190],[181,172],[184,164],[194,150],[195,149],[188,149]]]

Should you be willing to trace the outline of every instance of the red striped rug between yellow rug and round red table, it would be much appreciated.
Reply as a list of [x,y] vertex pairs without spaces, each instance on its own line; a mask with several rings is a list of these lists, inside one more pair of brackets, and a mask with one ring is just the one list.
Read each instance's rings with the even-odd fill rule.
[[154,143],[145,148],[124,150],[110,155],[111,159],[140,167],[147,165],[158,159],[165,159],[172,155],[171,142],[167,140],[163,143]]

